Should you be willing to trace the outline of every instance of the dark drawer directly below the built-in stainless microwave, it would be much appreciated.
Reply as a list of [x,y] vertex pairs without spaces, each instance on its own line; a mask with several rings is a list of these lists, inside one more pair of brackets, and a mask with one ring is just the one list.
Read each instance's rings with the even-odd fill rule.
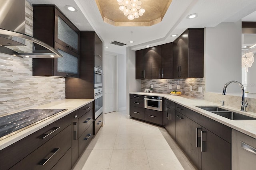
[[163,112],[145,109],[145,121],[163,125]]

